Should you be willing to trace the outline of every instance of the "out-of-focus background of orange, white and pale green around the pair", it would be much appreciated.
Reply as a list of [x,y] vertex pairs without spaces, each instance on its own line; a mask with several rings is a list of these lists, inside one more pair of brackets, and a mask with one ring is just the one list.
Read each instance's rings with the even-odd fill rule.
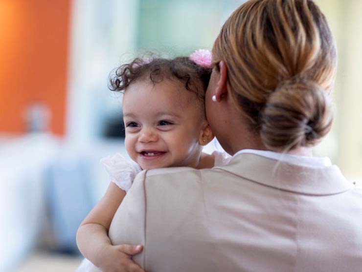
[[[75,232],[125,150],[109,72],[211,49],[242,0],[0,0],[0,272],[74,271]],[[362,1],[316,0],[336,37],[335,122],[315,148],[362,182]]]

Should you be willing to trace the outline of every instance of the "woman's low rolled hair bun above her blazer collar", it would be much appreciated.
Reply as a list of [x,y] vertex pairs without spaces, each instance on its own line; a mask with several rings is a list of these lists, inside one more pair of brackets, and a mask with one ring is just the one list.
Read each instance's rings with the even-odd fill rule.
[[313,81],[293,78],[271,93],[260,115],[260,135],[270,150],[286,152],[316,145],[330,130],[327,91]]

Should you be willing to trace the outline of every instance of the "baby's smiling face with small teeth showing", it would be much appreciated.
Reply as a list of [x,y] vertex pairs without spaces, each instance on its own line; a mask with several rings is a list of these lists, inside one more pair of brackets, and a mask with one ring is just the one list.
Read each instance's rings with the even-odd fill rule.
[[125,146],[142,169],[196,167],[207,125],[195,94],[179,81],[140,80],[123,96]]

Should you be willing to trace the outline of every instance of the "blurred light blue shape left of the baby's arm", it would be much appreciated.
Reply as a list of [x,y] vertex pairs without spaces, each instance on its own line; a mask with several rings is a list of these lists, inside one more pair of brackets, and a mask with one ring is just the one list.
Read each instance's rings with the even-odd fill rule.
[[77,229],[92,208],[91,163],[63,156],[46,171],[46,196],[56,250],[77,253]]

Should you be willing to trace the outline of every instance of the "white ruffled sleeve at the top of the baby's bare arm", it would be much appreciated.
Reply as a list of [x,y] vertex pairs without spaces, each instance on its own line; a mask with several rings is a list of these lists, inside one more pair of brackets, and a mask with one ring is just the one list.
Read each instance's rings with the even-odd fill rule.
[[100,162],[106,168],[111,181],[125,191],[131,188],[137,173],[142,170],[135,162],[127,160],[119,153],[103,158]]

